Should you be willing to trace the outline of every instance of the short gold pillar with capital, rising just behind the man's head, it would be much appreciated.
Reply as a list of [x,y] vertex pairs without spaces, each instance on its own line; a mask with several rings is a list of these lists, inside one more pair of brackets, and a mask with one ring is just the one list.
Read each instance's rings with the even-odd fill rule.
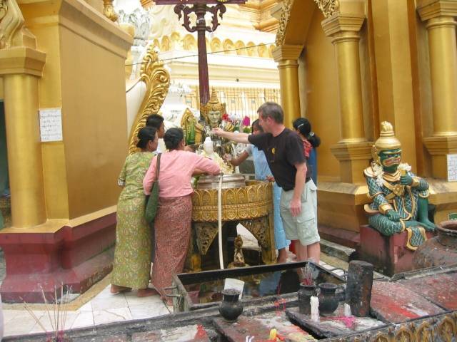
[[281,105],[284,110],[284,125],[287,128],[292,128],[293,120],[301,116],[297,60],[302,50],[301,45],[281,45],[272,51],[273,58],[278,63]]

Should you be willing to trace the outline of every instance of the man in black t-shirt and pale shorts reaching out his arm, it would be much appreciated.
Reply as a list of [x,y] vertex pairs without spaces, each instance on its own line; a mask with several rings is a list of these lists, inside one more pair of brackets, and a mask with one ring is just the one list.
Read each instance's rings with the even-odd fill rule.
[[283,125],[280,105],[266,102],[257,110],[264,133],[248,135],[214,129],[211,133],[263,150],[274,180],[282,188],[281,218],[287,239],[300,240],[297,259],[318,262],[321,252],[317,231],[316,185],[306,179],[306,160],[301,138]]

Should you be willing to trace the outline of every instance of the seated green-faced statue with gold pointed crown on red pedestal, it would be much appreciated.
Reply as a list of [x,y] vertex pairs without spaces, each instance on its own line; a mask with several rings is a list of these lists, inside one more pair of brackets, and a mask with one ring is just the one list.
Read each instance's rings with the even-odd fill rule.
[[406,230],[406,247],[415,250],[426,240],[426,231],[435,229],[428,220],[428,183],[401,163],[401,143],[391,123],[381,123],[371,154],[371,166],[364,171],[372,201],[365,205],[368,222],[386,236]]

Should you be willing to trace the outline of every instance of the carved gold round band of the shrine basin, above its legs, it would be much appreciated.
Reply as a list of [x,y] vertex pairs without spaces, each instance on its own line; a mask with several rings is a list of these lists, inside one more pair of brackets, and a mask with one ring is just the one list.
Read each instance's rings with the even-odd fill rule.
[[[271,183],[248,181],[246,187],[222,190],[222,220],[233,221],[263,217],[271,212]],[[217,189],[195,189],[192,220],[217,222]]]

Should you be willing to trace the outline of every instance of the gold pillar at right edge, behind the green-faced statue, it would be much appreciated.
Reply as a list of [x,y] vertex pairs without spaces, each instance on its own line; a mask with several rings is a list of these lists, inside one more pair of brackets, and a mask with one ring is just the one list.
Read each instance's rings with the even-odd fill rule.
[[424,138],[433,177],[447,179],[447,155],[457,153],[457,1],[420,0],[430,55],[433,136]]

